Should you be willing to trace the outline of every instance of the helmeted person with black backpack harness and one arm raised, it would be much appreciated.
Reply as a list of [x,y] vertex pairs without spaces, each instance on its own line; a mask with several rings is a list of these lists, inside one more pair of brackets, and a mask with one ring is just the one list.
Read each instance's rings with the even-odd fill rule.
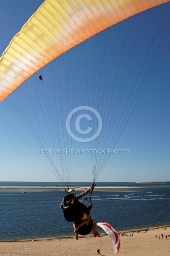
[[60,208],[63,210],[65,219],[69,222],[74,222],[81,220],[81,222],[75,226],[74,233],[76,234],[77,239],[77,230],[90,221],[90,217],[87,213],[83,212],[83,204],[79,202],[79,199],[87,195],[92,189],[94,189],[94,184],[91,185],[90,189],[82,192],[81,194],[75,195],[74,189],[68,190],[68,195],[62,200]]

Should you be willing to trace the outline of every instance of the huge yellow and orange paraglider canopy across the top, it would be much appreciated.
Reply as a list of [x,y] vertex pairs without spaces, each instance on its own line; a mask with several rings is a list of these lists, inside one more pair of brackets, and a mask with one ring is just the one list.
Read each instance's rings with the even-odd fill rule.
[[0,102],[45,65],[109,27],[169,0],[46,0],[0,58]]

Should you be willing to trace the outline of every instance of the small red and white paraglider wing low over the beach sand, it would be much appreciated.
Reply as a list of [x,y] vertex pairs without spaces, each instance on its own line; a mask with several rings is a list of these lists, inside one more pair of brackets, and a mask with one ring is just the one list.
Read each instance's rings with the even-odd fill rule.
[[108,223],[106,222],[98,222],[97,226],[101,227],[105,232],[109,235],[113,248],[114,248],[114,253],[119,253],[120,250],[120,239],[119,239],[119,234],[117,231]]

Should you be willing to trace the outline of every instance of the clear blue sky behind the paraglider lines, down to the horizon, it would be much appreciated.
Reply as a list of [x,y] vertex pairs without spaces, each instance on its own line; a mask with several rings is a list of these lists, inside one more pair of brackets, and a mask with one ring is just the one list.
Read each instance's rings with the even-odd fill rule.
[[[2,55],[13,36],[20,31],[23,24],[38,9],[42,2],[40,0],[18,0],[17,3],[11,0],[1,1],[0,55]],[[114,26],[110,31],[105,31],[92,38],[91,41],[85,42],[77,47],[77,49],[73,49],[63,55],[62,58],[57,59],[55,63],[50,64],[26,84],[23,84],[6,102],[1,102],[0,116],[8,126],[0,120],[0,180],[57,181],[57,177],[47,168],[48,166],[51,169],[49,161],[43,154],[40,154],[41,147],[37,146],[25,124],[18,117],[16,109],[12,109],[11,105],[9,106],[11,102],[17,104],[16,97],[17,99],[22,99],[25,104],[23,106],[23,103],[20,102],[21,108],[29,109],[30,112],[27,118],[30,115],[32,120],[36,122],[31,108],[31,104],[34,105],[39,125],[42,128],[41,131],[45,135],[44,143],[47,145],[45,148],[56,148],[53,145],[55,139],[54,137],[53,139],[50,138],[53,132],[48,133],[48,128],[45,126],[45,119],[48,120],[48,113],[44,109],[43,113],[46,113],[44,119],[40,105],[37,103],[35,87],[38,88],[37,90],[40,92],[40,95],[42,95],[41,92],[48,92],[51,96],[51,104],[54,104],[54,95],[51,95],[53,94],[51,93],[53,89],[48,89],[52,84],[57,92],[57,103],[55,102],[55,104],[58,112],[54,111],[54,113],[57,113],[59,119],[60,148],[73,148],[74,152],[76,149],[83,149],[85,151],[86,149],[96,148],[97,144],[98,148],[105,148],[107,150],[112,148],[112,143],[111,145],[109,143],[105,145],[105,141],[111,141],[111,137],[116,129],[115,127],[119,125],[119,118],[124,113],[123,109],[128,96],[130,96],[130,90],[133,85],[138,88],[140,83],[142,83],[143,87],[147,84],[147,90],[114,147],[115,149],[129,149],[129,154],[111,154],[99,177],[99,181],[169,180],[170,51],[167,47],[170,41],[170,25],[167,25],[169,10],[170,4],[160,6],[150,12],[136,16],[134,20],[129,19],[126,23]],[[163,21],[162,14],[164,17]],[[155,23],[152,22],[153,20]],[[144,25],[142,26],[142,24]],[[140,33],[136,36],[139,30]],[[152,44],[150,49],[153,35],[155,35],[154,44]],[[135,39],[135,36],[137,39]],[[106,38],[108,39],[106,40]],[[162,38],[164,38],[164,41],[161,41]],[[137,43],[133,43],[136,40]],[[134,47],[132,47],[133,44]],[[160,48],[163,47],[161,49],[163,53],[159,53],[154,57],[159,46]],[[163,54],[164,58],[161,59]],[[134,55],[135,62],[132,61],[131,57]],[[102,56],[104,56],[105,61],[102,61],[100,66]],[[130,64],[133,66],[132,70],[130,70]],[[147,72],[150,66],[155,66],[153,73],[156,73],[153,79],[151,79],[153,73]],[[54,82],[52,73],[54,73]],[[43,82],[40,84],[38,76],[41,74],[43,74]],[[111,119],[111,116],[114,112],[113,108],[116,99],[118,99],[118,102],[120,99],[120,84],[122,84],[121,91],[123,91],[123,84],[125,84],[125,93],[120,101],[119,111],[112,127],[113,119]],[[31,103],[28,101],[27,88],[29,88],[31,95]],[[115,89],[111,99],[113,88]],[[66,90],[68,94],[65,93]],[[109,96],[107,96],[108,90]],[[133,94],[135,95],[136,92],[137,89],[133,91]],[[40,100],[43,101],[42,97]],[[130,107],[131,103],[133,103],[133,100],[127,103],[126,110]],[[65,129],[65,119],[68,113],[73,108],[83,105],[89,105],[96,109],[103,120],[101,137],[99,136],[92,143],[79,143],[71,140]],[[106,111],[104,111],[105,106],[107,106]],[[54,109],[55,106],[52,105],[52,108]],[[88,111],[84,113],[88,115]],[[50,117],[50,120],[52,118]],[[75,116],[76,118],[77,116]],[[73,122],[75,119],[73,119]],[[108,122],[106,122],[107,119]],[[93,124],[90,124],[94,125],[95,128],[97,120],[94,120]],[[88,126],[91,127],[85,118],[82,119],[80,124],[82,130],[86,130]],[[62,128],[62,125],[64,128]],[[36,129],[39,136],[41,136],[38,126]],[[107,137],[110,131],[111,135]],[[76,132],[75,127],[74,132]],[[72,181],[92,180],[90,154],[72,154],[64,155],[64,157],[66,157],[65,164],[68,164],[68,169],[71,171]],[[93,157],[94,155],[92,155]],[[57,169],[61,172],[57,161]],[[64,164],[64,160],[62,163]]]

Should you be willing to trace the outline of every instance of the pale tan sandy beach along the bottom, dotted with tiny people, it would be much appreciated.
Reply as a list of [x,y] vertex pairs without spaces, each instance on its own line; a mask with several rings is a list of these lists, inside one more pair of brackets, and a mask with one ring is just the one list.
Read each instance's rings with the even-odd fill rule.
[[[130,236],[133,233],[133,236]],[[170,227],[150,229],[147,232],[131,231],[128,236],[120,235],[121,248],[119,255],[127,256],[169,256]],[[164,235],[162,239],[161,234]],[[156,238],[157,235],[157,238]],[[160,236],[160,239],[159,239]],[[91,236],[79,238],[56,238],[39,241],[0,242],[0,256],[95,256],[100,248],[101,255],[114,254],[109,236],[94,238]]]

